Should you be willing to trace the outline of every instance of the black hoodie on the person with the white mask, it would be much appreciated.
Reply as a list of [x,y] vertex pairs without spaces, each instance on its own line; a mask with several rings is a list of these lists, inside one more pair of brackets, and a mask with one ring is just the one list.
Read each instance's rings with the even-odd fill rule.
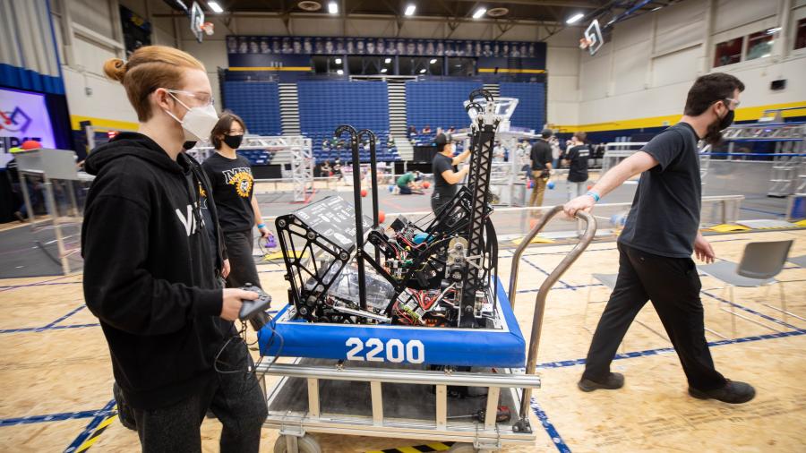
[[193,158],[174,161],[134,132],[93,150],[85,167],[97,176],[81,229],[85,301],[129,405],[170,406],[210,385],[232,329],[219,318],[222,256],[207,231],[218,219],[210,212],[208,225],[199,208],[209,181]]

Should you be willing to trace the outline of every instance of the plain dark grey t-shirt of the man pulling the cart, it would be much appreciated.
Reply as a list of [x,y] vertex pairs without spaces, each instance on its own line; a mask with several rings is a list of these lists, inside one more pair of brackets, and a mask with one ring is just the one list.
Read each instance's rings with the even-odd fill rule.
[[699,229],[702,184],[697,134],[679,123],[642,151],[658,164],[641,174],[619,242],[644,252],[690,258]]

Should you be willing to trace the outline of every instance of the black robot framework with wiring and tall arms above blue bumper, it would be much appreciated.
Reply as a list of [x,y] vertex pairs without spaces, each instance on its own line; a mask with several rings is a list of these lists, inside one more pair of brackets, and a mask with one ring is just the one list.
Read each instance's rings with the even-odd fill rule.
[[[349,125],[353,165],[359,140],[370,139],[373,218],[340,197],[315,201],[275,221],[289,282],[289,301],[305,321],[421,327],[493,328],[498,244],[491,220],[490,175],[495,134],[502,121],[493,96],[474,90],[470,115],[468,184],[442,209],[416,221],[379,222],[372,131]],[[360,187],[360,172],[353,184]],[[367,272],[366,264],[372,271]]]

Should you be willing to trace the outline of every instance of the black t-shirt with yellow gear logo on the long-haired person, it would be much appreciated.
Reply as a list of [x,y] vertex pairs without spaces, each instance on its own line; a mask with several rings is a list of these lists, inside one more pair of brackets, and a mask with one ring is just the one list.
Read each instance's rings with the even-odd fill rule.
[[201,167],[212,184],[221,230],[224,233],[252,230],[254,179],[249,161],[243,156],[233,159],[215,153]]

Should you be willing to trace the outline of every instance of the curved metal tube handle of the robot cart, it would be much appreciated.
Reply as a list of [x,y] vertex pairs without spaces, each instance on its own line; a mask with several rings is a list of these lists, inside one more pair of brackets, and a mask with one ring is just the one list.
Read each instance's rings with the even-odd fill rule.
[[[518,268],[520,264],[520,257],[523,255],[523,252],[527,249],[529,244],[531,244],[532,239],[540,233],[540,230],[551,220],[557,213],[562,211],[562,206],[555,206],[552,210],[545,213],[543,218],[540,218],[540,221],[537,225],[532,228],[526,237],[523,239],[518,245],[518,248],[515,249],[515,255],[512,257],[512,269],[510,275],[510,303],[512,304],[512,309],[514,311],[515,308],[515,296],[517,295],[516,287],[518,286]],[[577,211],[577,218],[585,221],[585,233],[582,235],[582,238],[579,240],[576,246],[567,254],[565,258],[560,261],[560,264],[557,265],[556,268],[549,274],[548,277],[545,278],[543,285],[540,286],[540,289],[537,291],[537,297],[535,299],[535,315],[534,319],[532,320],[532,334],[529,338],[529,349],[527,354],[527,374],[535,374],[537,368],[537,347],[540,346],[540,334],[543,331],[543,314],[545,311],[545,298],[548,295],[549,290],[551,290],[552,286],[557,283],[562,277],[562,274],[565,273],[570,265],[577,261],[579,255],[582,252],[585,252],[587,246],[593,241],[594,235],[596,235],[596,218],[591,216],[589,213],[585,211]],[[523,389],[523,398],[520,401],[520,419],[525,420],[527,419],[527,411],[529,410],[529,403],[532,397],[532,389]]]

